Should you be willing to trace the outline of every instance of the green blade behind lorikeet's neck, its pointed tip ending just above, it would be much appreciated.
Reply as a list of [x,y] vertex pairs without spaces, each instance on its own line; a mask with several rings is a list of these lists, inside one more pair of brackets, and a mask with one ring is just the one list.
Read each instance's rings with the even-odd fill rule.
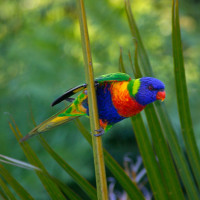
[[[138,64],[137,59],[137,43],[135,49],[135,77],[142,77],[142,73]],[[148,125],[151,131],[151,136],[153,139],[156,154],[159,159],[159,164],[161,166],[161,171],[164,176],[164,182],[166,184],[168,195],[170,199],[180,199],[184,198],[181,186],[179,184],[178,176],[176,174],[175,167],[173,165],[173,160],[171,158],[166,140],[164,138],[164,133],[161,128],[158,116],[156,114],[153,104],[150,104],[145,109],[145,114],[147,117]]]

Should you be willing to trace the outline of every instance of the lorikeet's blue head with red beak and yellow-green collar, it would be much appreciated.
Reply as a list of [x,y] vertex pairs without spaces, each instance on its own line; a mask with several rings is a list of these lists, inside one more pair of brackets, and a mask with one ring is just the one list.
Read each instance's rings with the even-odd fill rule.
[[[131,96],[141,105],[145,106],[156,100],[165,99],[165,85],[162,81],[152,77],[142,77],[132,80]],[[130,88],[130,87],[129,87]]]

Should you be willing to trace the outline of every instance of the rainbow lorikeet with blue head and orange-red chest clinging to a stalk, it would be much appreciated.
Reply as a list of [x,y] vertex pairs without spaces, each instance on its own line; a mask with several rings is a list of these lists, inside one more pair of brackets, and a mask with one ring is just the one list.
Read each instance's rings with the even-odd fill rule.
[[[152,77],[131,79],[125,73],[106,74],[95,79],[95,88],[101,127],[96,136],[108,131],[115,123],[141,112],[147,104],[165,99],[165,85]],[[82,93],[76,99],[71,98],[80,91]],[[35,127],[22,141],[77,117],[89,116],[87,84],[68,90],[56,99],[52,106],[63,100],[72,103]]]

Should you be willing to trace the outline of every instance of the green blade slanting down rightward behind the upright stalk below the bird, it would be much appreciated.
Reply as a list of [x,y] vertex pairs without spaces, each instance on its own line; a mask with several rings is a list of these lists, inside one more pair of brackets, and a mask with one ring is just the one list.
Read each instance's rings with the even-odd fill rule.
[[[77,127],[79,128],[82,135],[92,146],[92,138],[89,132],[85,129],[82,123],[77,119]],[[104,149],[105,164],[114,177],[118,180],[120,185],[127,192],[130,199],[144,200],[142,193],[139,191],[137,186],[132,182],[130,177],[125,173],[121,166],[113,159],[113,157]]]

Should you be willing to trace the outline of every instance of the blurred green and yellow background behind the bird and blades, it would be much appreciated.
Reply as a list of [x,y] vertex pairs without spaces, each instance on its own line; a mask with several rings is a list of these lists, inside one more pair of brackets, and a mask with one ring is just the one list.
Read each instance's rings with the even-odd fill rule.
[[[172,2],[134,0],[131,3],[154,75],[166,84],[165,104],[179,133],[171,47]],[[126,69],[132,75],[128,51],[134,54],[134,41],[124,1],[85,0],[85,7],[95,76],[118,71],[120,47]],[[199,146],[200,1],[183,0],[179,7],[190,108]],[[7,113],[14,117],[25,135],[33,128],[31,110],[36,122],[42,122],[65,106],[61,103],[52,108],[55,98],[84,82],[76,1],[0,1],[0,154],[25,160],[9,128]],[[81,121],[89,129],[89,120]],[[127,119],[103,136],[104,146],[121,164],[125,154],[138,155],[132,132]],[[44,137],[74,169],[95,182],[91,148],[73,122],[45,133]],[[182,141],[180,134],[179,139]],[[52,162],[37,137],[29,143],[53,175],[73,185],[71,178]],[[37,191],[42,199],[44,189],[33,172],[6,167],[31,194]]]

